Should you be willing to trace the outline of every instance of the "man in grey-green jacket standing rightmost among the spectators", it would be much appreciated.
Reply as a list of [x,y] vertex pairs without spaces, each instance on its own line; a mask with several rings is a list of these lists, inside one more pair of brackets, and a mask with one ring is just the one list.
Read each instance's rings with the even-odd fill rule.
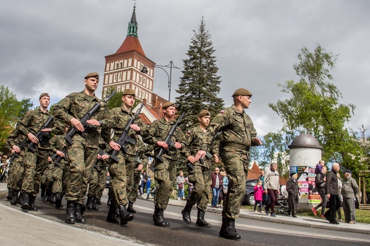
[[345,170],[344,182],[342,186],[344,223],[356,223],[355,199],[359,194],[359,186],[352,178],[351,170]]

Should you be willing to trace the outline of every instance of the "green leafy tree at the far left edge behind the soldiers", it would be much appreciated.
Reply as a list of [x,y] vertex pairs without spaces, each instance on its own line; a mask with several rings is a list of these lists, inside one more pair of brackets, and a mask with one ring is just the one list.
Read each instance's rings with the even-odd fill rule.
[[30,98],[18,101],[16,95],[4,85],[0,86],[0,150],[3,151],[5,141],[14,129],[18,119],[23,117],[33,106]]

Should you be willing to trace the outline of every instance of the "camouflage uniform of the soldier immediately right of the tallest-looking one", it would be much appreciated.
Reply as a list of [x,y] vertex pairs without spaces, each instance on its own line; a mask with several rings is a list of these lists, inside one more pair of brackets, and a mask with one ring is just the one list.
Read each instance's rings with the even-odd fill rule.
[[[113,108],[111,110],[114,116],[114,136],[111,138],[110,129],[104,129],[102,131],[102,138],[105,142],[110,143],[111,141],[116,142],[125,128],[127,122],[134,116],[135,113],[127,112],[127,110],[121,106],[120,108]],[[136,139],[137,134],[142,133],[147,127],[139,117],[136,117],[134,124],[137,124],[141,130],[136,132],[130,129],[128,136],[132,139]],[[123,147],[123,146],[121,146]],[[113,191],[113,197],[111,198],[111,204],[113,207],[118,205],[126,206],[128,203],[127,194],[131,193],[133,187],[133,173],[135,168],[135,145],[128,143],[126,146],[127,153],[121,149],[117,153],[118,163],[112,161],[109,163],[108,171],[111,176],[111,189]]]

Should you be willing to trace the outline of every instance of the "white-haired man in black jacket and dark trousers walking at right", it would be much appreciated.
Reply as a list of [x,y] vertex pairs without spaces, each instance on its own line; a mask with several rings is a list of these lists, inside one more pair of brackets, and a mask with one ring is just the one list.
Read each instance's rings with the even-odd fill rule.
[[326,176],[326,196],[330,202],[330,209],[324,214],[324,217],[331,224],[339,224],[335,220],[335,212],[340,208],[340,199],[338,196],[338,179],[336,173],[339,171],[339,163],[332,164],[332,171]]

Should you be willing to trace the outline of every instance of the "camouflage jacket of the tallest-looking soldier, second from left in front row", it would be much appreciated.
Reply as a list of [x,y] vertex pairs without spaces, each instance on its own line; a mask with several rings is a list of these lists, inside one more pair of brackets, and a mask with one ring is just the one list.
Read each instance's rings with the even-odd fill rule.
[[[72,118],[80,120],[96,103],[100,103],[98,97],[89,96],[86,93],[75,92],[68,97],[63,98],[54,106],[53,115],[64,123],[71,123]],[[102,121],[101,128],[112,127],[113,118],[111,112],[108,110],[107,104],[103,104],[100,109],[95,112],[91,120]],[[99,133],[95,125],[89,125],[85,129],[85,138],[81,134],[75,134],[73,141],[79,141],[86,147],[98,149]]]

